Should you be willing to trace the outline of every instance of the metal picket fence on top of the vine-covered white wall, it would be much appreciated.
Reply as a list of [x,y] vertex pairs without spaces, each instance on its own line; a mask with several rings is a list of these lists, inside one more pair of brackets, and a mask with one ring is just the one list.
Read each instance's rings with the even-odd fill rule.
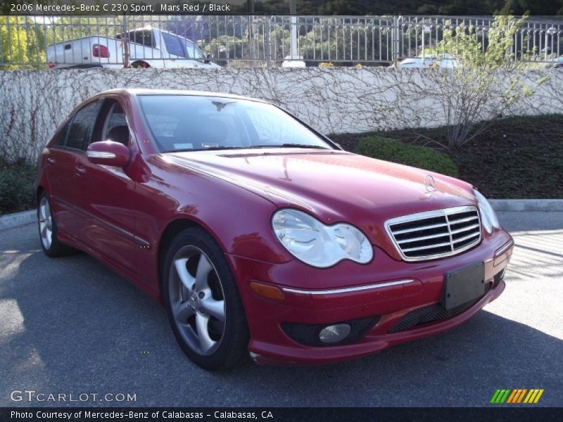
[[[88,37],[98,37],[99,44],[103,44],[103,37],[120,39],[121,53],[101,60],[103,54],[98,51],[97,59],[91,57],[94,63],[129,65],[128,45],[139,43],[130,34],[149,27],[182,37],[183,50],[178,47],[179,56],[175,56],[180,62],[184,58],[206,60],[187,51],[189,41],[193,41],[221,65],[245,65],[244,62],[265,66],[291,62],[387,65],[435,49],[445,30],[453,27],[470,31],[485,51],[492,24],[493,18],[467,16],[0,16],[0,68],[44,68],[54,57],[49,46],[62,43],[61,49],[72,49],[69,41]],[[512,60],[560,62],[562,35],[561,20],[527,20],[514,35],[508,56]],[[146,42],[145,46],[148,46]],[[160,49],[154,46],[135,51],[136,59],[144,54],[147,59],[162,60],[163,66],[170,65],[164,46]],[[76,54],[72,50],[72,56],[63,51],[56,60],[68,65],[82,63],[84,51],[78,49]],[[455,51],[447,53],[455,56]]]

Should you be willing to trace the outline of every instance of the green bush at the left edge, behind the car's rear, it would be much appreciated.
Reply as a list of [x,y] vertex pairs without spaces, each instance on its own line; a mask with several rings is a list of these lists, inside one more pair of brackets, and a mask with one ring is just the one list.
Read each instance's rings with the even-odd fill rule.
[[30,210],[35,205],[34,165],[0,160],[0,215]]

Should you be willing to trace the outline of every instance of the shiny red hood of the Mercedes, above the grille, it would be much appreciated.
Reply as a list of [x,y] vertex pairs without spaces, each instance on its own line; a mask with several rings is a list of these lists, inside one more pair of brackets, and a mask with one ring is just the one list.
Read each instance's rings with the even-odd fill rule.
[[[193,151],[167,153],[166,158],[241,186],[278,207],[301,208],[325,224],[354,224],[396,258],[385,234],[386,219],[476,205],[472,186],[464,181],[345,151]],[[432,194],[426,189],[427,175],[435,181]]]

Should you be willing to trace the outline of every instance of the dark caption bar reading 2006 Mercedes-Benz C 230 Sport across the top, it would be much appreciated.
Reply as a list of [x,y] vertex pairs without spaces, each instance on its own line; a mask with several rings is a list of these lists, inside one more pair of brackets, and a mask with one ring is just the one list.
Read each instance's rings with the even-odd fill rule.
[[[134,7],[134,6],[135,7]],[[161,5],[170,6],[163,9]],[[213,5],[214,7],[211,7]],[[151,6],[145,8],[143,6]],[[561,13],[556,1],[541,4],[454,0],[2,0],[0,15],[538,15]],[[542,16],[540,16],[542,15]]]

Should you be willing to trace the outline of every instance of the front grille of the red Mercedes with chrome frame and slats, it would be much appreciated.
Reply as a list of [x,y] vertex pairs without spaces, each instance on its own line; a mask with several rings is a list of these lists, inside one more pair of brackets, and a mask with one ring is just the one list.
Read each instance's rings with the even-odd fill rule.
[[456,255],[481,241],[476,207],[454,207],[389,219],[387,233],[405,261]]

